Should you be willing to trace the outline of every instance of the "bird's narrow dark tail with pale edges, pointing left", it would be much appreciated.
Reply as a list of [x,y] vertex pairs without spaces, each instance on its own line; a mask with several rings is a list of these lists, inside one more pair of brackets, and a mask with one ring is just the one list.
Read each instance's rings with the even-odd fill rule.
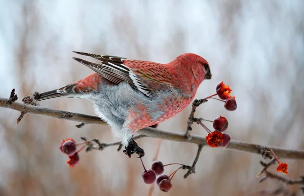
[[76,92],[74,91],[75,84],[64,86],[60,89],[55,89],[52,91],[47,91],[44,93],[34,93],[33,95],[26,96],[22,99],[25,103],[31,103],[31,99],[34,98],[36,101],[42,101],[46,99],[52,99],[56,97],[66,97],[68,95],[75,95]]

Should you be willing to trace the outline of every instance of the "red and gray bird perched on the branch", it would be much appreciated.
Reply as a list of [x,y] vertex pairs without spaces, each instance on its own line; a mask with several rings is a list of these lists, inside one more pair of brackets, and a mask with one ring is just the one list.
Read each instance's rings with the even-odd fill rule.
[[[51,98],[82,98],[93,102],[95,113],[115,136],[122,138],[124,152],[144,155],[132,139],[140,129],[164,122],[185,109],[194,99],[200,84],[211,79],[209,63],[203,57],[184,53],[162,64],[72,51],[93,57],[98,63],[73,57],[94,72],[59,89],[41,93],[36,101]],[[30,103],[30,96],[22,99]]]

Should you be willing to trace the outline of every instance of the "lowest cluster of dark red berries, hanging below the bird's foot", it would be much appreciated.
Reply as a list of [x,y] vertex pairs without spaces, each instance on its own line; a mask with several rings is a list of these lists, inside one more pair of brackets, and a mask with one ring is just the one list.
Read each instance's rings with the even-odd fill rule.
[[[159,186],[160,190],[164,192],[168,192],[172,188],[171,180],[176,172],[184,167],[182,164],[173,163],[163,165],[161,161],[155,161],[152,163],[151,169],[147,169],[144,167],[143,162],[140,158],[144,171],[142,172],[141,176],[146,184],[152,184],[156,181],[157,185]],[[164,167],[169,165],[181,165],[177,170],[172,172],[169,176],[164,173]],[[158,176],[158,177],[156,177]]]

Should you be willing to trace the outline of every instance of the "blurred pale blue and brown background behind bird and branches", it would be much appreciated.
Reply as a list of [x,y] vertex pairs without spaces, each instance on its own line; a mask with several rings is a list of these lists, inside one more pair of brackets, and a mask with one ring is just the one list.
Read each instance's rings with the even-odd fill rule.
[[[0,97],[8,98],[15,88],[21,101],[92,73],[72,60],[78,56],[71,51],[160,63],[196,53],[209,61],[213,74],[196,98],[213,94],[224,81],[238,101],[238,109],[230,112],[211,100],[197,109],[197,117],[226,116],[233,140],[304,150],[304,1],[0,0],[0,5]],[[94,114],[86,100],[58,98],[41,104]],[[190,110],[159,128],[185,132]],[[58,149],[62,139],[118,141],[108,126],[77,129],[75,122],[31,114],[17,125],[19,114],[0,108],[0,195],[127,196],[152,190],[142,181],[140,161],[116,147],[83,151],[79,165],[68,168]],[[192,133],[206,135],[198,125]],[[148,168],[159,144],[157,159],[164,164],[191,165],[197,151],[194,144],[151,138],[138,143]],[[196,174],[183,179],[185,171],[179,171],[168,193],[156,186],[149,195],[261,195],[281,185],[270,179],[258,182],[260,160],[257,154],[206,147]],[[304,175],[303,161],[282,161],[289,164],[289,178]],[[166,167],[165,173],[176,168]],[[301,195],[298,186],[284,190],[278,195]]]

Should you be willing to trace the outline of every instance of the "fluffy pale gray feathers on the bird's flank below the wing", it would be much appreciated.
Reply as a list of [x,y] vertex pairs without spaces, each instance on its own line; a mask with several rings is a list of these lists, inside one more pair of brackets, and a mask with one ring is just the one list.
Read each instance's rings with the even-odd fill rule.
[[159,106],[163,105],[163,100],[170,96],[175,97],[177,93],[172,90],[162,92],[151,99],[131,88],[128,83],[120,85],[101,84],[99,92],[91,99],[94,102],[95,111],[101,119],[115,129],[122,129],[129,109],[140,113],[140,108],[136,107],[143,104],[150,115],[151,121],[156,121],[165,112],[165,110],[159,109]]

